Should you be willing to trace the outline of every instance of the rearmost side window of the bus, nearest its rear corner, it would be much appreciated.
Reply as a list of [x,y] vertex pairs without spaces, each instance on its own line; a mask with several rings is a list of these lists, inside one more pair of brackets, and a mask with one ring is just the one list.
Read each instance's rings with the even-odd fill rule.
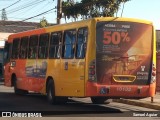
[[85,58],[87,39],[88,39],[88,29],[80,28],[78,30],[78,37],[76,43],[76,58],[78,59]]

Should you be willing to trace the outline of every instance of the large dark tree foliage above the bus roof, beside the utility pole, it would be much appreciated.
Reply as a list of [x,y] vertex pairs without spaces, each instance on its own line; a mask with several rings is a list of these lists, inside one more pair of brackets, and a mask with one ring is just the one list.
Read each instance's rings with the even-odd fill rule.
[[111,17],[114,16],[119,9],[121,3],[129,0],[81,0],[75,3],[74,0],[62,2],[62,13],[65,18],[88,19],[93,17]]

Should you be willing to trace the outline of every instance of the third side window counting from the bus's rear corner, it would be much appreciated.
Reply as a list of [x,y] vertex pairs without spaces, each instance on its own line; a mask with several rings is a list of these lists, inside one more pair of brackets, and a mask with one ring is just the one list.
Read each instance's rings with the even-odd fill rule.
[[62,32],[51,33],[49,58],[60,58]]

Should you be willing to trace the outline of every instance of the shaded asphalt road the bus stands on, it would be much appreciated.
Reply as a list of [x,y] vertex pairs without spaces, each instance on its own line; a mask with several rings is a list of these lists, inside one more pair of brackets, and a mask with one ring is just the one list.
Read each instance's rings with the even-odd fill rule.
[[[89,98],[70,98],[67,104],[50,105],[46,96],[40,94],[15,95],[13,88],[0,84],[0,111],[40,112],[43,116],[76,116],[76,117],[122,117],[136,113],[157,113],[155,109],[127,105],[110,100],[109,104],[92,104]],[[158,113],[159,115],[160,113]]]

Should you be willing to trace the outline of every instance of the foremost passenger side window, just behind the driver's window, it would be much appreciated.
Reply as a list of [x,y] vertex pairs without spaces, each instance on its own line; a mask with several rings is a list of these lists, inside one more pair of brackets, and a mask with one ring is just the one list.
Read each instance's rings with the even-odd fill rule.
[[13,39],[12,54],[11,54],[12,59],[18,59],[19,44],[20,44],[19,38]]

